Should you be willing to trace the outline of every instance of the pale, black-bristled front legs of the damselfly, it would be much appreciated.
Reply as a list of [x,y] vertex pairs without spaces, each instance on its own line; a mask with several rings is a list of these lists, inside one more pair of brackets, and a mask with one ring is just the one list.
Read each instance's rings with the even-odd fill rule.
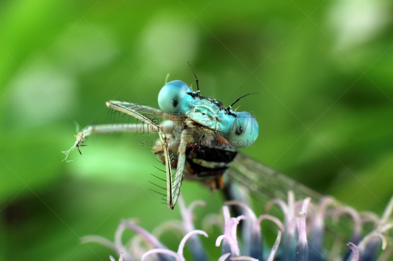
[[[125,113],[140,120],[141,123],[89,125],[76,135],[74,147],[80,151],[80,147],[85,146],[85,144],[83,144],[85,139],[95,134],[126,132],[158,133],[160,142],[153,147],[153,152],[162,157],[162,161],[166,166],[167,204],[170,209],[173,209],[180,193],[186,162],[186,147],[188,142],[192,140],[192,134],[188,129],[184,129],[179,136],[180,145],[176,147],[176,139],[173,138],[173,132],[177,132],[177,130],[174,130],[175,126],[171,126],[170,123],[168,124],[168,121],[163,121],[159,124],[157,120],[153,118],[164,118],[164,114],[160,110],[121,101],[107,101],[106,105],[113,110]],[[173,157],[171,153],[176,151],[178,154],[177,164],[173,166]],[[69,151],[66,151],[64,153],[68,155],[68,152]],[[172,172],[172,167],[176,167],[174,173]]]

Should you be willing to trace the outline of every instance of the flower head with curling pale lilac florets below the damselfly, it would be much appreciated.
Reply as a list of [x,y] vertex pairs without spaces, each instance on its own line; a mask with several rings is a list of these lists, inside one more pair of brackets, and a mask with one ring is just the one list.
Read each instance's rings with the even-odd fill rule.
[[[118,226],[114,242],[99,236],[84,237],[84,242],[98,242],[116,251],[120,256],[119,261],[150,261],[150,260],[176,260],[185,261],[184,247],[189,245],[194,260],[208,260],[206,251],[199,239],[200,235],[207,237],[207,233],[196,230],[192,212],[197,205],[204,203],[197,201],[188,208],[182,199],[179,201],[182,221],[170,221],[165,223],[167,227],[176,228],[185,235],[179,243],[177,251],[169,250],[158,239],[163,228],[156,230],[156,236],[148,233],[133,220],[123,220]],[[322,198],[318,204],[313,204],[310,198],[295,201],[293,192],[288,192],[287,202],[281,199],[271,200],[266,210],[269,211],[277,205],[283,213],[283,220],[271,214],[256,216],[252,209],[242,202],[229,201],[228,206],[236,206],[241,210],[241,215],[231,217],[228,206],[223,207],[224,232],[217,237],[216,246],[222,248],[219,261],[246,260],[246,261],[274,261],[274,260],[302,260],[302,261],[324,261],[324,260],[377,260],[378,246],[383,250],[388,248],[387,233],[393,228],[392,212],[393,197],[381,218],[375,214],[366,212],[358,213],[354,209],[342,206],[331,197]],[[325,241],[325,224],[330,221],[338,222],[342,216],[349,216],[353,220],[353,232],[348,243],[343,243],[342,235],[334,235],[333,243]],[[260,224],[262,220],[273,222],[278,233],[276,241],[267,247],[263,240]],[[362,235],[365,223],[373,223],[374,228]],[[239,224],[241,226],[239,227]],[[121,236],[124,230],[130,229],[137,233],[126,247]],[[238,237],[241,230],[241,237]],[[338,234],[338,233],[337,233]],[[348,240],[348,239],[347,239]],[[240,242],[242,244],[240,244]],[[264,247],[263,247],[264,246]],[[345,246],[347,248],[345,248]],[[392,254],[392,247],[387,251],[384,260]],[[265,251],[267,250],[267,251]],[[115,259],[110,257],[111,261]]]

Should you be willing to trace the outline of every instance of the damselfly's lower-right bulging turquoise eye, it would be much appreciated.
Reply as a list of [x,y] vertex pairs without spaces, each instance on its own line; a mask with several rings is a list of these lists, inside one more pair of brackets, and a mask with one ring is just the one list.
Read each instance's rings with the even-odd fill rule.
[[248,147],[258,138],[258,122],[248,112],[237,114],[230,126],[227,140],[236,148]]

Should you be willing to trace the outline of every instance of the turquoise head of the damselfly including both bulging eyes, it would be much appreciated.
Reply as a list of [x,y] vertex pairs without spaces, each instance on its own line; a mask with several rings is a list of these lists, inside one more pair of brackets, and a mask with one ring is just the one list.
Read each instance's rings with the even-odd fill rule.
[[258,137],[258,123],[248,112],[236,112],[220,101],[198,95],[185,82],[168,82],[158,95],[167,114],[181,114],[202,127],[216,131],[234,147],[250,146]]

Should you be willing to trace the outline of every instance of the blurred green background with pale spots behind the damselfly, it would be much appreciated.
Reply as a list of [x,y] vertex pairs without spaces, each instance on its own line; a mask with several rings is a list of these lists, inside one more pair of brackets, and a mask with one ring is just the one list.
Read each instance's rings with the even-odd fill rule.
[[[160,165],[138,134],[92,137],[70,163],[61,151],[75,123],[117,120],[106,100],[157,107],[167,73],[194,83],[186,59],[203,95],[228,105],[259,93],[237,103],[260,126],[242,152],[381,214],[393,191],[392,14],[388,0],[2,0],[0,260],[109,260],[80,237],[179,217],[149,190]],[[223,202],[190,182],[182,194],[208,202],[199,221]]]

